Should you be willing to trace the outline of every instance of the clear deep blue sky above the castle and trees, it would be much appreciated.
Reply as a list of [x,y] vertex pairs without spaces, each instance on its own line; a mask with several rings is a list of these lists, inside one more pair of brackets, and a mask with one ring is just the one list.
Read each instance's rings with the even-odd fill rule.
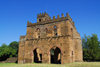
[[94,33],[100,40],[100,0],[0,0],[0,45],[19,41],[27,21],[36,23],[42,12],[51,18],[69,13],[81,37]]

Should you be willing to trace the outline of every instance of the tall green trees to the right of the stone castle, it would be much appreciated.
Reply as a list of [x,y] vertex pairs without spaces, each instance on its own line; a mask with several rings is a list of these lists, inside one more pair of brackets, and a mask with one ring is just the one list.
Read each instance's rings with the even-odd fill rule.
[[82,38],[83,59],[84,60],[100,60],[100,42],[96,34],[92,36],[84,35]]

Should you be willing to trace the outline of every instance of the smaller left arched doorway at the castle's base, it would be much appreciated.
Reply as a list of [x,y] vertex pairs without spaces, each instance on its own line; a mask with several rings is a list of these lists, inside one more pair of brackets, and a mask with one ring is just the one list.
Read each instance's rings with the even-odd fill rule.
[[42,51],[39,48],[36,48],[35,50],[33,50],[33,60],[35,63],[42,63]]

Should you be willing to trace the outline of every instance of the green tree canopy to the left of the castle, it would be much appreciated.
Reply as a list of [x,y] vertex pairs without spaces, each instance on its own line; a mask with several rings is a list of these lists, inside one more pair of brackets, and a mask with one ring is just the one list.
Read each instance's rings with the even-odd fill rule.
[[18,42],[13,41],[9,45],[3,43],[0,47],[0,61],[6,60],[9,57],[18,56]]

